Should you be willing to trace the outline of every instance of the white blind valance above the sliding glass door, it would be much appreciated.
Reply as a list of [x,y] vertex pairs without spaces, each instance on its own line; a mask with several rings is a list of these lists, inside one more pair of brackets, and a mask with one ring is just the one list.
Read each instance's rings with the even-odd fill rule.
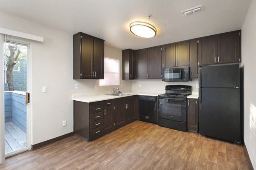
[[21,38],[26,38],[29,40],[44,42],[44,37],[40,37],[40,36],[33,35],[33,34],[27,34],[27,33],[20,32],[20,31],[14,31],[11,29],[1,28],[1,27],[0,27],[0,34],[12,35],[15,37],[21,37]]

